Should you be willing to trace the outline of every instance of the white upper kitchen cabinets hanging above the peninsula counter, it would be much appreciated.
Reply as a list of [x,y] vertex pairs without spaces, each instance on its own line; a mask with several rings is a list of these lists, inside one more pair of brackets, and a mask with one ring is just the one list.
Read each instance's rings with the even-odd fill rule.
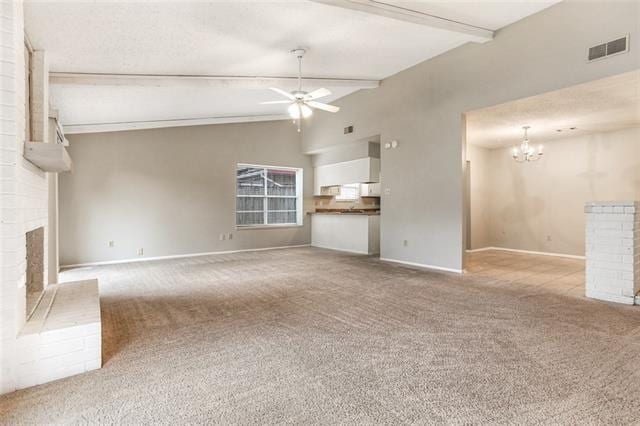
[[320,195],[324,186],[380,181],[380,159],[373,157],[318,166],[314,169],[314,194]]

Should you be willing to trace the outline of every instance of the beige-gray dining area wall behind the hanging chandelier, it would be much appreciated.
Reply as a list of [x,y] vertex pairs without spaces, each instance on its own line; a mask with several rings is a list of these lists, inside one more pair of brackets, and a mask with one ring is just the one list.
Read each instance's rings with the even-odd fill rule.
[[470,148],[472,248],[584,256],[584,204],[640,200],[640,128],[545,142],[530,164]]

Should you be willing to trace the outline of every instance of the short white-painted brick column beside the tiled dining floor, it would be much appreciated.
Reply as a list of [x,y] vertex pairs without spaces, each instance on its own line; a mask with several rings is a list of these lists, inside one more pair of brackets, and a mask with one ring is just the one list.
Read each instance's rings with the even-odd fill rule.
[[586,296],[640,304],[640,202],[590,202],[586,220]]

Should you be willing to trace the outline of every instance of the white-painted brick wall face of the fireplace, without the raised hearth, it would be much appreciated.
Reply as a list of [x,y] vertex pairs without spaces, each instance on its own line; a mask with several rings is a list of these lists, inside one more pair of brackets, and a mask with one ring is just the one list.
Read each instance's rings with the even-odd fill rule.
[[[23,149],[28,137],[42,137],[46,130],[48,73],[44,58],[34,58],[40,63],[32,65],[40,67],[42,77],[32,76],[35,77],[32,84],[40,91],[41,104],[32,102],[29,108],[30,94],[26,85],[29,53],[24,39],[23,4],[1,0],[0,6],[3,22],[0,61],[4,64],[0,67],[3,90],[0,109],[0,393],[5,393],[16,389],[17,385],[18,334],[26,323],[27,306],[34,303],[33,297],[27,302],[27,294],[34,296],[38,288],[41,291],[47,284],[48,177],[24,158]],[[29,129],[26,116],[32,118]],[[28,257],[34,260],[27,261]],[[27,289],[29,279],[32,283]]]

